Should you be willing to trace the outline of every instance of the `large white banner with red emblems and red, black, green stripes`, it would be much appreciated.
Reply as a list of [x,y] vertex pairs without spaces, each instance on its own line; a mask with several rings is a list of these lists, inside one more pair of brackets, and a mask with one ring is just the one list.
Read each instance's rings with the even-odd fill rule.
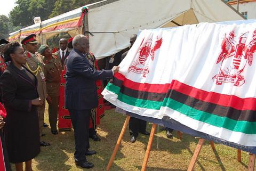
[[141,116],[256,146],[256,23],[143,30],[102,92]]

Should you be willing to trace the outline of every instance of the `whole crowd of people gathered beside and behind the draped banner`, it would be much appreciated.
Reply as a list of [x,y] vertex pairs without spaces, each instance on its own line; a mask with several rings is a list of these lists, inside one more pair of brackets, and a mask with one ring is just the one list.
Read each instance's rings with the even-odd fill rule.
[[[131,46],[136,38],[131,36]],[[11,170],[10,161],[17,171],[23,170],[23,162],[26,171],[31,171],[40,146],[50,145],[43,141],[43,127],[49,126],[44,123],[45,101],[51,133],[58,134],[57,121],[59,131],[70,131],[73,126],[75,164],[92,168],[86,156],[96,153],[89,150],[89,138],[100,141],[96,127],[104,113],[101,80],[108,81],[118,72],[129,48],[110,56],[106,69],[100,70],[84,35],[61,38],[54,53],[46,44],[38,46],[34,34],[21,43],[0,40],[0,170]],[[146,125],[146,121],[130,119],[131,143],[139,133],[149,135]],[[170,130],[168,135],[172,137]]]

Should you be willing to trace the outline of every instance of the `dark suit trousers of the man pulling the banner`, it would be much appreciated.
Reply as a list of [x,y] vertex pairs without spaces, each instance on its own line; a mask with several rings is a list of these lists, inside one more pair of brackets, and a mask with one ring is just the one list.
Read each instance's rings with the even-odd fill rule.
[[85,153],[90,148],[89,144],[89,122],[91,109],[69,110],[75,135],[75,153],[76,161],[86,160]]

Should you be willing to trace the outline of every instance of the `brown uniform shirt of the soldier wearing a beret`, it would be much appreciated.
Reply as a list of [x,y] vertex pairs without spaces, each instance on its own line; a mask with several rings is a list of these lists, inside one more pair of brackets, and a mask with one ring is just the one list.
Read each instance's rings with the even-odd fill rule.
[[45,78],[46,78],[46,88],[47,93],[51,97],[60,96],[60,77],[62,64],[61,60],[56,55],[52,55],[52,59],[48,60],[44,57],[45,63]]

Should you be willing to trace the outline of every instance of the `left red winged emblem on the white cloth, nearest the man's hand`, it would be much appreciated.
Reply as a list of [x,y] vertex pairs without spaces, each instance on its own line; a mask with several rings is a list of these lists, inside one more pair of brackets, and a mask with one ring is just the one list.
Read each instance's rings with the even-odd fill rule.
[[146,75],[149,72],[148,69],[148,57],[151,56],[151,60],[153,61],[155,58],[155,52],[158,50],[158,48],[161,47],[163,43],[163,38],[157,37],[156,42],[154,43],[154,46],[152,45],[152,39],[148,39],[146,42],[144,42],[145,39],[142,40],[140,44],[140,50],[139,50],[139,58],[137,60],[134,60],[132,63],[132,66],[129,67],[128,72],[132,71],[137,74],[143,74],[143,77],[146,77]]

